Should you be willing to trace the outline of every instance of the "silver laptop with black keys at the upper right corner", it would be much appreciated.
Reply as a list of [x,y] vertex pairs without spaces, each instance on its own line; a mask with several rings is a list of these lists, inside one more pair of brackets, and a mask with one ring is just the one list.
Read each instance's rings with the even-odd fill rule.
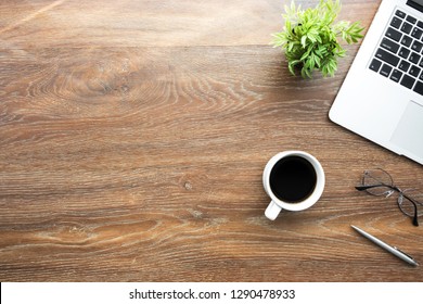
[[423,164],[423,0],[382,0],[329,117]]

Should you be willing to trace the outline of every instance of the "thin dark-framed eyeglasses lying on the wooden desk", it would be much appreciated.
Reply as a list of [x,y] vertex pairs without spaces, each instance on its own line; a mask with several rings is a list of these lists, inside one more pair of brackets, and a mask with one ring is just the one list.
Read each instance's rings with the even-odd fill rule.
[[[419,226],[419,217],[423,215],[423,194],[421,192],[415,189],[402,191],[394,186],[390,175],[381,168],[364,170],[361,183],[356,189],[372,195],[390,198],[394,193],[397,193],[399,210],[412,219],[414,226]],[[418,207],[420,207],[420,211]]]

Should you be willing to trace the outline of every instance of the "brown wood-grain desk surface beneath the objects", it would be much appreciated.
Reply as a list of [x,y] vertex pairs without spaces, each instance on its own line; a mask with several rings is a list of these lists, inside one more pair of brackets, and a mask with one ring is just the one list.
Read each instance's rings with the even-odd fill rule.
[[[343,3],[367,27],[380,0]],[[423,281],[349,227],[423,263],[423,227],[354,188],[383,167],[423,190],[422,166],[329,121],[358,46],[334,78],[293,77],[282,8],[1,1],[0,280]],[[326,187],[270,221],[262,168],[291,149]]]

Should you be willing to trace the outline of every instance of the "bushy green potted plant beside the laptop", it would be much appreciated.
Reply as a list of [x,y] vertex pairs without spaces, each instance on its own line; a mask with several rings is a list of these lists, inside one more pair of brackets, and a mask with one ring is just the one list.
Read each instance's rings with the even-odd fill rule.
[[323,76],[333,76],[337,69],[337,59],[345,56],[345,49],[338,38],[350,43],[362,38],[364,29],[358,22],[335,23],[341,11],[339,0],[320,0],[313,9],[303,10],[294,0],[285,7],[283,18],[285,26],[281,33],[274,33],[272,45],[281,47],[286,55],[290,72],[302,68],[304,78],[311,78],[315,69]]

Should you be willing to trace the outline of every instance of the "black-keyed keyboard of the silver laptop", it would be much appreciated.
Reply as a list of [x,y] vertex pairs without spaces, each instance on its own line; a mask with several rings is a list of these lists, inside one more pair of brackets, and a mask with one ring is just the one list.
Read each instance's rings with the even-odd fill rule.
[[369,68],[423,96],[423,22],[397,10]]

